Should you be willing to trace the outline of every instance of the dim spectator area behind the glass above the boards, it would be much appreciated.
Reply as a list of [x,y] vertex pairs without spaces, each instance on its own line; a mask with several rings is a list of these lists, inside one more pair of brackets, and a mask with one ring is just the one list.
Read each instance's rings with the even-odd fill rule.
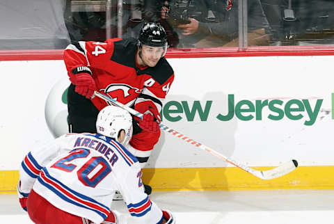
[[[334,43],[333,0],[244,1],[248,46]],[[121,9],[118,3],[122,3]],[[40,0],[33,0],[22,7],[22,1],[5,0],[0,6],[0,17],[8,20],[3,25],[13,28],[1,29],[0,47],[61,49],[79,40],[136,38],[145,22],[161,23],[170,47],[237,47],[238,3],[239,0],[46,0],[41,4]],[[24,12],[19,13],[20,9]],[[28,43],[24,45],[19,40]]]

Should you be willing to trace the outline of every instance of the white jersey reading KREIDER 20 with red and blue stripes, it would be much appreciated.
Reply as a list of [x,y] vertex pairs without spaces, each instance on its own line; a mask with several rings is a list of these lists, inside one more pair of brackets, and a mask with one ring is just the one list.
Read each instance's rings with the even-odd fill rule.
[[161,223],[162,211],[144,193],[141,167],[125,147],[100,134],[65,134],[29,152],[19,170],[20,193],[31,189],[70,214],[101,223],[120,191],[140,223]]

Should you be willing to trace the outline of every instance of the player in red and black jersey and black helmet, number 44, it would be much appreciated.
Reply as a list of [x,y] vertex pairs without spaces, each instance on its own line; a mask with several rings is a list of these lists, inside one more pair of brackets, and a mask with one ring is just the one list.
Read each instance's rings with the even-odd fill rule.
[[134,135],[126,147],[143,168],[159,141],[154,118],[161,120],[159,112],[174,79],[164,58],[166,50],[166,32],[154,22],[143,25],[138,40],[114,38],[69,45],[64,61],[71,81],[67,92],[70,132],[96,131],[96,115],[107,104],[93,97],[94,90],[132,106],[144,117],[134,118]]

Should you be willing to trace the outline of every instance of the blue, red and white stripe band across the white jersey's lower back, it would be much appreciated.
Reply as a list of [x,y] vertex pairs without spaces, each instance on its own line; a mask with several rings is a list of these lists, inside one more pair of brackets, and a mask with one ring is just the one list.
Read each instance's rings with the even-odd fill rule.
[[42,169],[42,173],[40,174],[40,177],[38,177],[38,182],[46,186],[47,189],[53,191],[59,198],[65,200],[66,202],[94,211],[99,216],[102,216],[103,219],[110,213],[108,207],[96,202],[93,198],[89,198],[81,193],[77,193],[76,191],[69,189],[67,186],[54,179],[54,177],[51,177],[46,169]]

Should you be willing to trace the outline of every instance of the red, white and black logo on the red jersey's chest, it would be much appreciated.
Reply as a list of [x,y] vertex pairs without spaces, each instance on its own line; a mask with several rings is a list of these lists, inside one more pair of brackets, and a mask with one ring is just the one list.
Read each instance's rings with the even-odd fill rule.
[[127,84],[111,84],[106,87],[104,93],[122,104],[131,106],[141,93],[141,90]]

